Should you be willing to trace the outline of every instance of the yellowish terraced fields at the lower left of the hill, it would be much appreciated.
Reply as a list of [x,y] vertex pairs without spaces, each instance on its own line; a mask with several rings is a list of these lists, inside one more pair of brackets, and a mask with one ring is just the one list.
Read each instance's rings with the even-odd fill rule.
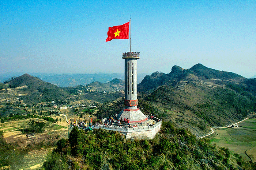
[[[57,123],[37,118],[0,123],[0,131],[3,132],[5,141],[15,148],[8,151],[9,153],[1,155],[11,162],[11,169],[37,170],[42,167],[47,154],[54,149],[52,143],[57,142],[60,138],[68,138],[68,124],[63,116],[61,119]],[[22,134],[20,130],[28,127],[29,120],[46,122],[48,126],[45,132],[35,134],[34,139],[27,139],[26,134]]]

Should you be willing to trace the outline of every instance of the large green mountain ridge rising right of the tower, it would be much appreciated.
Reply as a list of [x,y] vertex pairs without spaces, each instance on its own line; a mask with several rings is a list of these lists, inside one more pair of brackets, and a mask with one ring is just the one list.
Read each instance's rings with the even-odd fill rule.
[[256,112],[256,79],[202,64],[190,69],[173,66],[169,74],[155,72],[146,76],[138,89],[154,106],[155,114],[196,135]]

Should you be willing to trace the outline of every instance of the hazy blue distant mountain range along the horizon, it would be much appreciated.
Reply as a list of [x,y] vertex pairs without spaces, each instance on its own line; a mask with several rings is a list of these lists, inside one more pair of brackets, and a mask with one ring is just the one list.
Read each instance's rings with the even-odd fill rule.
[[[46,74],[46,73],[28,73],[31,76],[35,76],[44,80],[45,82],[52,83],[59,87],[75,87],[78,85],[87,85],[92,82],[108,83],[111,80],[124,79],[124,74],[121,73],[98,73],[98,74]],[[0,82],[10,81],[12,78],[16,78],[21,73],[8,73],[0,75]],[[138,83],[143,80],[147,74],[138,74]]]

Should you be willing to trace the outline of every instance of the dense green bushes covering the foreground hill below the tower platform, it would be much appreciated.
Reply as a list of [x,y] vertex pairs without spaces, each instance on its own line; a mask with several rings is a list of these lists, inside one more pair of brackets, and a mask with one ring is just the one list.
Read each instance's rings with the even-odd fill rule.
[[151,140],[125,139],[120,133],[102,129],[71,131],[69,139],[60,139],[57,149],[44,163],[45,169],[247,169],[246,162],[226,148],[197,139],[185,129],[163,122],[161,132]]

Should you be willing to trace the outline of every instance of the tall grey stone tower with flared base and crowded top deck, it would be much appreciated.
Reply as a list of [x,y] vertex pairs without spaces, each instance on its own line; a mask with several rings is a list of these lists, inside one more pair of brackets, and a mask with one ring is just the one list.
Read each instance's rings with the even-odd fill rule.
[[137,59],[139,59],[138,52],[123,53],[124,59],[124,92],[125,108],[117,115],[117,119],[121,118],[130,119],[129,123],[140,123],[140,120],[144,122],[147,120],[142,111],[137,108]]

